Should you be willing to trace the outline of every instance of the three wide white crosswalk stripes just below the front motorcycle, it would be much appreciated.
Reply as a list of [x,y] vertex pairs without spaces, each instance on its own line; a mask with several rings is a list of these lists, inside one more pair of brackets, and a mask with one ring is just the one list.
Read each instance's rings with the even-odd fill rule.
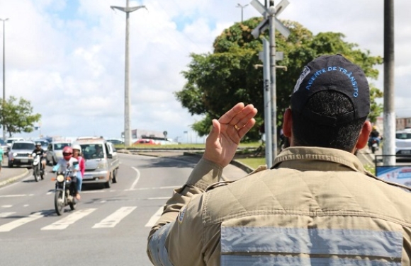
[[[106,218],[101,219],[101,221],[97,221],[96,224],[91,226],[91,229],[110,229],[118,224],[120,224],[123,219],[129,216],[132,212],[137,209],[136,206],[129,206],[129,207],[120,207],[116,209],[111,214],[108,214]],[[57,230],[64,230],[72,226],[73,224],[83,221],[86,216],[93,214],[94,212],[98,212],[98,208],[86,208],[86,209],[76,209],[69,214],[63,214],[61,219],[52,222],[52,224],[47,224],[40,226],[40,231],[57,231]],[[1,233],[10,232],[13,230],[18,229],[21,226],[29,224],[30,222],[45,218],[46,216],[55,215],[54,210],[50,210],[47,212],[35,212],[33,214],[29,214],[28,216],[17,216],[16,212],[0,212],[0,218],[6,219],[14,219],[14,216],[21,217],[16,218],[13,221],[9,221],[6,224],[2,224],[0,220],[0,236]],[[45,220],[43,220],[45,221]]]

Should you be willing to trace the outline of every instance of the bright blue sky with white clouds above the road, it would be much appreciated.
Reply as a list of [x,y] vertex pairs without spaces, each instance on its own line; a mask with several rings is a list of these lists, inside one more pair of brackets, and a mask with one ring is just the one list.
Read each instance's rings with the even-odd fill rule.
[[[314,34],[344,33],[347,42],[383,56],[382,0],[289,2],[279,19],[297,21]],[[212,52],[215,37],[241,21],[242,11],[244,20],[261,16],[245,6],[249,3],[130,0],[130,6],[146,7],[130,13],[131,129],[167,131],[167,137],[181,142],[203,141],[191,130],[202,117],[191,116],[174,92],[186,82],[181,71],[189,54]],[[15,137],[121,137],[125,13],[110,6],[125,5],[126,0],[0,0],[0,18],[9,18],[4,32],[6,98],[23,97],[42,115],[39,130]],[[410,10],[411,1],[395,0],[397,117],[411,117]],[[2,40],[2,27],[0,34]],[[383,66],[378,69],[379,78],[370,82],[383,91]]]

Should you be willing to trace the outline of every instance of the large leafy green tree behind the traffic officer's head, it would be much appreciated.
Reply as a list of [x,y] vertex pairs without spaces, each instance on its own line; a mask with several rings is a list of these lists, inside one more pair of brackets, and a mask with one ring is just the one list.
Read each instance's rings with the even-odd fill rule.
[[[229,110],[240,101],[252,103],[259,110],[254,127],[248,139],[260,137],[259,128],[264,122],[263,75],[256,65],[261,64],[259,52],[262,50],[262,37],[254,39],[252,30],[261,18],[250,18],[243,23],[235,23],[219,35],[213,44],[213,53],[191,54],[188,70],[182,71],[186,84],[175,96],[192,115],[205,115],[193,124],[193,129],[201,136],[208,134],[210,120]],[[276,50],[284,53],[283,60],[276,62],[287,69],[276,70],[277,121],[281,125],[284,110],[288,108],[289,96],[296,79],[305,64],[322,54],[343,54],[364,69],[369,79],[378,78],[374,67],[382,64],[381,57],[372,57],[368,50],[361,51],[358,45],[344,41],[342,33],[318,33],[294,21],[283,21],[291,31],[286,39],[276,33]],[[268,40],[269,32],[264,33]],[[375,103],[382,93],[378,88],[371,90],[371,115],[375,119],[381,113],[381,105]]]

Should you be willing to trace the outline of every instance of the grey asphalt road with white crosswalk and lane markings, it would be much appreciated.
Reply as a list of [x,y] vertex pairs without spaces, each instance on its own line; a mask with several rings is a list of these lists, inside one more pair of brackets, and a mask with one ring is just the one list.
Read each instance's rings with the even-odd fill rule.
[[[119,154],[118,183],[84,187],[77,209],[57,216],[54,185],[32,176],[0,188],[0,265],[151,265],[147,235],[198,158]],[[229,178],[245,175],[233,166]]]

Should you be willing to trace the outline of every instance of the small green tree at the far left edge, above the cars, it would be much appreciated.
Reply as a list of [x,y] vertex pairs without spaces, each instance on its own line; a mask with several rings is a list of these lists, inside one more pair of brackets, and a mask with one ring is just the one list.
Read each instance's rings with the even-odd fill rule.
[[1,125],[6,126],[9,137],[14,133],[33,132],[34,123],[40,121],[40,114],[33,114],[33,107],[28,100],[10,96],[4,102],[1,112]]

